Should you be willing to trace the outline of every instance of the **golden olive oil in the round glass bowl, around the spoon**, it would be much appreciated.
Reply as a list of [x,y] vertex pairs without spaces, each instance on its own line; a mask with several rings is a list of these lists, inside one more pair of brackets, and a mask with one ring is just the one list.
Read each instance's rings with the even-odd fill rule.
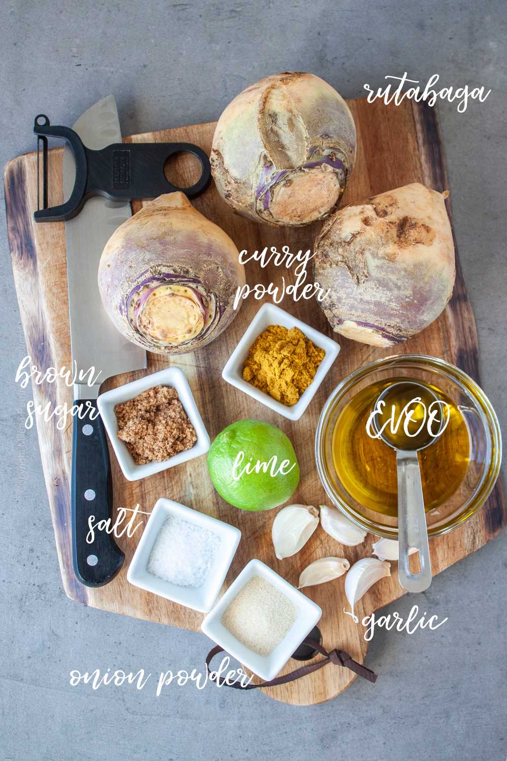
[[[391,516],[398,514],[396,452],[379,438],[371,438],[366,432],[366,425],[382,391],[391,384],[404,381],[407,378],[382,380],[357,393],[341,410],[334,425],[331,444],[334,470],[344,489],[365,508]],[[386,409],[390,412],[391,405],[395,403],[401,412],[404,404],[414,396],[421,396],[421,400],[426,402],[426,409],[434,396],[448,404],[449,420],[442,435],[418,453],[424,504],[426,511],[429,511],[442,505],[459,488],[467,473],[471,446],[468,428],[458,407],[438,388],[420,380],[417,383],[428,390],[426,399],[423,388],[419,388],[420,393],[417,394],[407,389],[410,399],[386,399]],[[414,409],[415,425],[417,420],[420,422],[423,419],[423,409],[422,405],[421,409]],[[447,412],[443,412],[442,416],[445,421]],[[403,448],[405,445],[407,449],[417,449],[423,446],[423,443],[417,441],[417,445],[414,445],[414,438],[407,441],[402,428],[403,420],[395,435],[391,434],[389,428],[385,428],[386,438],[389,435],[395,447]],[[438,429],[439,420],[436,419],[434,431]],[[425,435],[426,428],[420,436]]]

